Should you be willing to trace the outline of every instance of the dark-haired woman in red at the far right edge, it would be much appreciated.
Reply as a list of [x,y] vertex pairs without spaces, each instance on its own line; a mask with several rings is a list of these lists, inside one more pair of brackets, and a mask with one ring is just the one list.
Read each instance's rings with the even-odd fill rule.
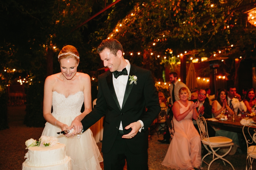
[[249,89],[246,93],[245,99],[244,99],[244,104],[247,107],[247,112],[252,113],[256,110],[256,100],[255,100],[255,93],[254,89]]

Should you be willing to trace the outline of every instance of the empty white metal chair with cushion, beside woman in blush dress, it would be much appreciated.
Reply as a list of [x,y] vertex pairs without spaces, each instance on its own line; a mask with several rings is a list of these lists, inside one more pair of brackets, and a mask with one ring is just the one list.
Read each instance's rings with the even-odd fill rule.
[[[232,146],[234,145],[234,143],[232,142],[232,139],[230,139],[228,137],[221,137],[221,136],[209,137],[205,118],[197,116],[196,122],[197,122],[197,126],[199,128],[199,131],[200,131],[201,141],[202,141],[205,149],[208,151],[208,153],[206,155],[204,155],[204,157],[202,158],[202,163],[206,156],[212,154],[212,161],[209,164],[204,161],[204,163],[208,165],[208,170],[210,169],[212,162],[214,162],[217,159],[222,159],[222,162],[224,163],[225,166],[226,166],[226,164],[224,161],[226,161],[233,168],[233,170],[235,170],[234,166],[227,159],[223,158],[230,152]],[[210,147],[211,150],[208,149],[207,145]],[[219,155],[218,153],[216,153],[218,150],[220,150],[221,147],[227,147],[227,146],[230,146],[230,148],[229,148],[228,152],[226,152],[224,155]],[[216,149],[216,150],[214,150],[214,149]],[[216,158],[214,158],[214,155],[216,156]],[[202,166],[202,163],[201,163],[201,166]]]

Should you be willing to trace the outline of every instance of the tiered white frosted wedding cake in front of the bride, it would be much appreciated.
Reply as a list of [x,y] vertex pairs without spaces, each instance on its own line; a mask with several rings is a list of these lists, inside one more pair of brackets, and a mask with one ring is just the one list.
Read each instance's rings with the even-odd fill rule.
[[27,159],[22,164],[22,170],[71,170],[65,144],[28,147],[25,157]]

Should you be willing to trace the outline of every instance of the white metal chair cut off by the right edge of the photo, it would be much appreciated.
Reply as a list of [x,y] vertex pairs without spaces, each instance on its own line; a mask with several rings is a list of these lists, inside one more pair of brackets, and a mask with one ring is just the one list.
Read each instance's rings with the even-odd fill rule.
[[[246,138],[245,136],[245,129],[244,127],[248,126],[248,134],[247,137],[249,139]],[[246,157],[246,170],[247,170],[247,161],[248,161],[248,165],[249,165],[249,170],[252,170],[252,162],[253,159],[256,159],[256,146],[252,145],[252,144],[256,144],[256,125],[255,124],[246,124],[243,127],[243,134],[244,134],[244,138],[246,140],[246,144],[247,144],[247,157]],[[251,132],[249,131],[249,129],[251,130]],[[252,133],[254,132],[254,134],[252,135]],[[250,146],[248,146],[248,144]]]

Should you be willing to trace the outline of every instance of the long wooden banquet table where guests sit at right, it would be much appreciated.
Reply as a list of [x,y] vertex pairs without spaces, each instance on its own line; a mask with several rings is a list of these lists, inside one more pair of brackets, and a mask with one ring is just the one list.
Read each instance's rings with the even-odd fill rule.
[[[256,122],[256,117],[251,118],[254,122]],[[220,128],[222,130],[228,130],[228,131],[232,131],[232,132],[237,132],[237,133],[243,133],[243,127],[244,125],[242,125],[240,123],[240,119],[238,116],[236,116],[236,121],[232,122],[231,117],[228,117],[228,120],[226,121],[211,121],[206,119],[207,124],[210,124],[211,126],[215,127],[215,128]],[[254,123],[255,124],[255,123]],[[247,129],[245,127],[246,130],[244,130],[246,133],[248,133]],[[256,130],[256,128],[255,128]],[[251,132],[253,132],[253,130],[250,130]],[[255,133],[255,131],[253,132]],[[252,133],[252,134],[253,134]]]

